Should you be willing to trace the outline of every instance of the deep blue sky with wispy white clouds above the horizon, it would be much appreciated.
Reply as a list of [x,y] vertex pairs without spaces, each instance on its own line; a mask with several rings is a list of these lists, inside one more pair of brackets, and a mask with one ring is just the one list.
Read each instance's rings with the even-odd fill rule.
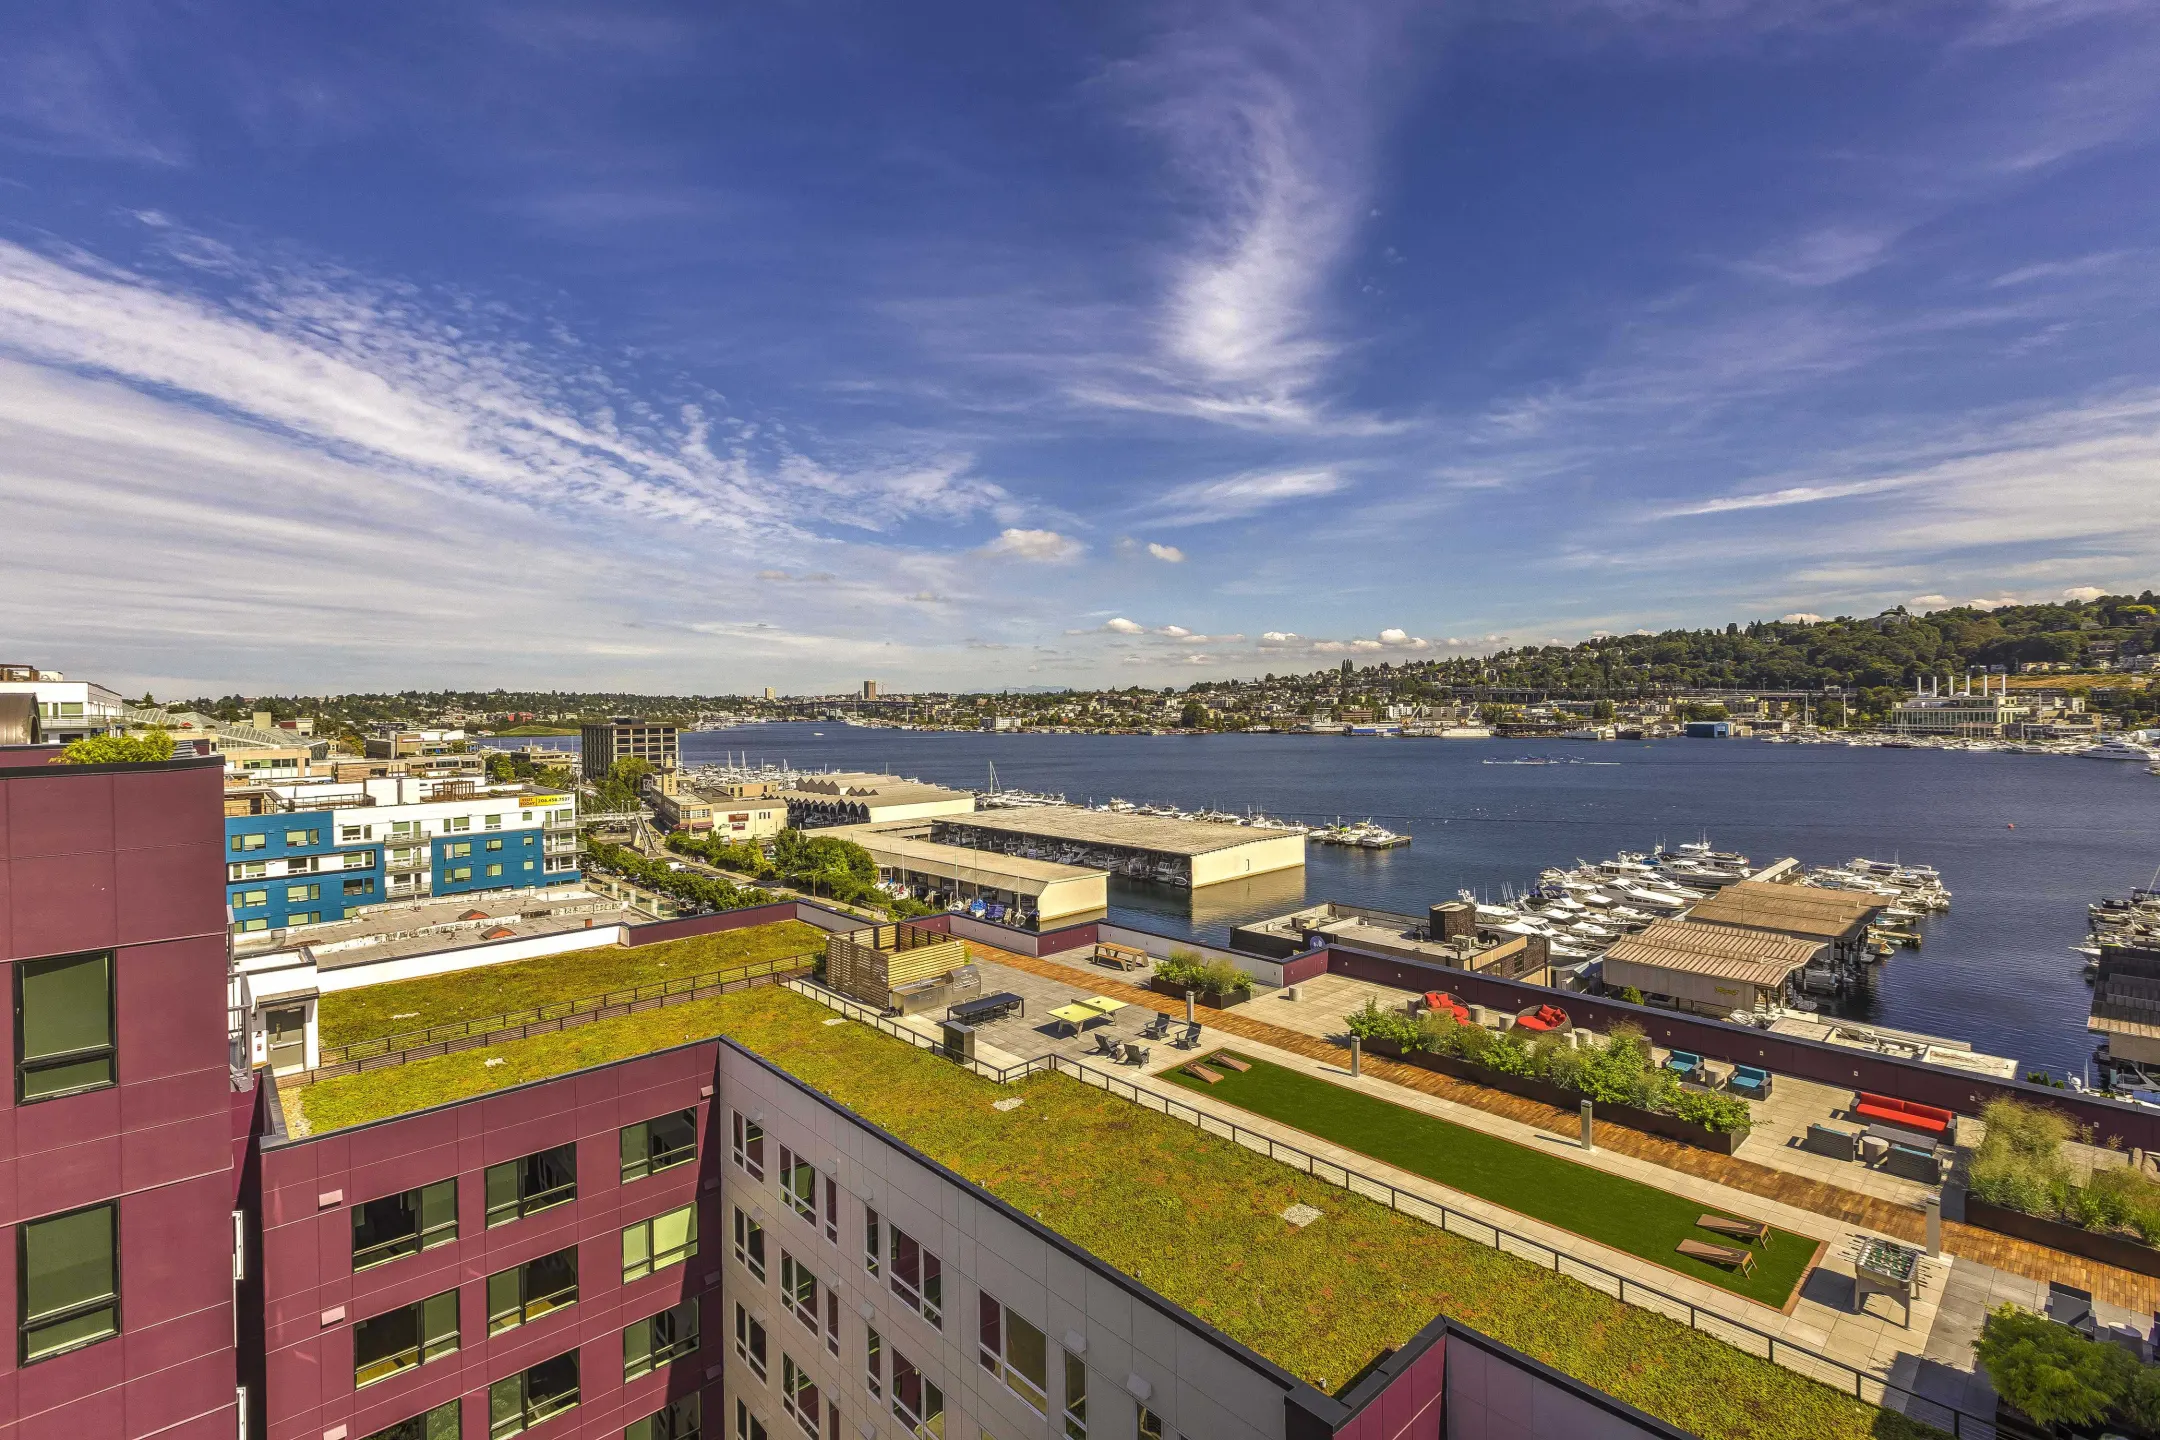
[[6,4],[9,658],[1171,684],[2160,581],[2160,9]]

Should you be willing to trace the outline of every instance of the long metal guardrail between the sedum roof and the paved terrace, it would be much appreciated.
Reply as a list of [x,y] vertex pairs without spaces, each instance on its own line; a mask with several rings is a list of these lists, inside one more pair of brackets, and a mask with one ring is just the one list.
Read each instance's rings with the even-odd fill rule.
[[[920,1034],[916,1030],[907,1030],[905,1025],[894,1025],[879,1010],[858,1004],[845,995],[836,995],[834,991],[827,991],[821,984],[808,984],[804,980],[786,980],[784,984],[791,991],[797,991],[801,995],[808,995],[810,1000],[816,1000],[819,1004],[845,1013],[849,1019],[860,1019],[868,1025],[875,1025],[883,1034],[907,1041],[918,1049],[929,1049],[940,1056],[946,1054],[944,1045],[940,1045],[931,1036]],[[1339,1190],[1361,1194],[1367,1200],[1378,1200],[1389,1209],[1402,1211],[1404,1215],[1410,1215],[1415,1220],[1423,1220],[1426,1224],[1439,1226],[1449,1235],[1475,1239],[1482,1246],[1490,1246],[1493,1250],[1503,1250],[1508,1254],[1514,1254],[1516,1259],[1531,1261],[1534,1265],[1551,1269],[1553,1274],[1581,1280],[1583,1285],[1590,1285],[1592,1289],[1603,1291],[1614,1300],[1620,1300],[1622,1304],[1631,1304],[1642,1310],[1652,1310],[1657,1315],[1663,1315],[1665,1319],[1676,1319],[1676,1321],[1685,1319],[1689,1330],[1700,1330],[1711,1339],[1724,1341],[1734,1349],[1752,1354],[1758,1360],[1769,1360],[1771,1364],[1780,1364],[1819,1384],[1847,1390],[1851,1393],[1853,1399],[1862,1403],[1877,1405],[1884,1410],[1896,1410],[1905,1418],[1920,1421],[1925,1425],[1935,1425],[1938,1429],[1946,1429],[1950,1436],[1957,1436],[1959,1440],[1994,1440],[1996,1436],[1994,1416],[1979,1416],[1972,1414],[1970,1410],[1959,1410],[1957,1405],[1929,1399],[1916,1390],[1896,1384],[1894,1380],[1871,1375],[1868,1371],[1847,1364],[1845,1360],[1836,1360],[1821,1351],[1808,1349],[1806,1345],[1795,1345],[1793,1341],[1776,1336],[1767,1330],[1758,1330],[1747,1321],[1732,1319],[1730,1315],[1706,1310],[1693,1300],[1683,1300],[1680,1295],[1661,1291],[1655,1285],[1644,1285],[1642,1280],[1633,1280],[1616,1269],[1605,1269],[1594,1261],[1585,1261],[1566,1254],[1564,1250],[1555,1250],[1540,1239],[1531,1239],[1529,1235],[1518,1235],[1516,1231],[1508,1231],[1488,1220],[1467,1215],[1449,1205],[1443,1205],[1441,1200],[1426,1198],[1417,1192],[1402,1190],[1398,1185],[1391,1185],[1389,1181],[1365,1174],[1363,1170],[1352,1170],[1333,1159],[1313,1155],[1311,1151],[1285,1144],[1274,1136],[1246,1129],[1244,1125],[1207,1114],[1205,1110],[1199,1110],[1194,1105],[1182,1105],[1164,1095],[1156,1095],[1153,1090],[1143,1090],[1130,1079],[1121,1079],[1117,1075],[1110,1075],[1108,1071],[1099,1071],[1069,1056],[1037,1056],[1035,1060],[1007,1067],[987,1064],[983,1060],[957,1060],[957,1062],[966,1064],[976,1075],[983,1075],[985,1079],[994,1079],[998,1084],[1011,1084],[1015,1079],[1024,1079],[1039,1071],[1071,1075],[1080,1084],[1095,1086],[1106,1095],[1140,1105],[1143,1110],[1153,1110],[1173,1120],[1184,1120],[1210,1136],[1223,1136],[1233,1144],[1242,1144],[1248,1151],[1257,1151],[1268,1159],[1287,1164],[1294,1170],[1302,1170],[1313,1179],[1335,1185]],[[1903,1401],[1903,1403],[1892,1403],[1892,1401]]]

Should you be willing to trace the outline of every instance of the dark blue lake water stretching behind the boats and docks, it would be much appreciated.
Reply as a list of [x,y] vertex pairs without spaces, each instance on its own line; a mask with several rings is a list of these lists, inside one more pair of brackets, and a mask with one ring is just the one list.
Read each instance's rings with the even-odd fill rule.
[[[575,741],[570,741],[575,745]],[[2143,764],[2056,756],[1847,749],[1760,741],[1525,743],[1346,736],[940,734],[747,725],[683,736],[685,762],[747,751],[797,769],[896,771],[1074,801],[1246,807],[1300,820],[1376,818],[1395,851],[1311,846],[1302,877],[1201,889],[1112,883],[1128,924],[1220,941],[1307,900],[1423,913],[1458,889],[1499,898],[1544,866],[1709,836],[1756,864],[1901,857],[1942,870],[1948,915],[1877,965],[1855,1015],[1972,1041],[2026,1067],[2082,1071],[2091,987],[2069,946],[2084,907],[2160,866],[2160,779]],[[1566,764],[1484,764],[1551,756]],[[1590,762],[1598,764],[1590,764]]]

